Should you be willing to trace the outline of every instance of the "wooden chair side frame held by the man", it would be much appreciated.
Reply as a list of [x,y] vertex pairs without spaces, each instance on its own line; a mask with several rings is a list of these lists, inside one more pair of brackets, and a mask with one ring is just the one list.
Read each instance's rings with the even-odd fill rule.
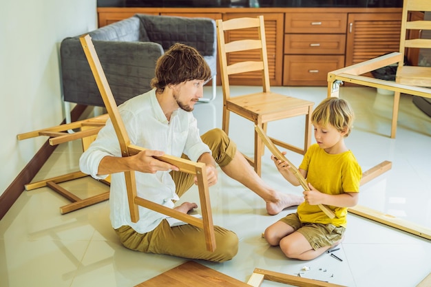
[[[109,84],[107,83],[107,78],[105,76],[105,73],[103,72],[102,65],[98,59],[90,35],[86,34],[85,36],[81,36],[80,41],[85,52],[85,56],[87,57],[87,61],[90,64],[90,68],[96,80],[98,89],[101,92],[103,103],[105,104],[105,107],[108,111],[109,118],[111,118],[112,124],[114,125],[116,136],[118,138],[118,142],[120,143],[122,156],[133,156],[140,151],[144,151],[145,149],[143,147],[131,145],[130,143],[129,136],[127,135],[127,131],[125,129],[125,125],[120,117],[120,113],[118,111],[118,107],[116,106],[114,96],[112,94],[111,88],[109,87]],[[193,226],[203,228],[207,244],[207,250],[214,251],[215,235],[211,213],[211,204],[209,200],[209,187],[207,182],[207,171],[205,169],[205,164],[202,162],[192,162],[191,160],[185,160],[182,158],[168,155],[160,156],[157,158],[158,160],[169,162],[170,164],[175,165],[180,169],[180,171],[196,175],[196,177],[198,178],[202,220],[191,215],[181,213],[180,211],[176,211],[175,209],[169,209],[168,207],[162,206],[161,204],[156,204],[149,200],[145,200],[144,198],[139,198],[136,194],[135,173],[134,171],[126,171],[125,181],[132,222],[138,221],[138,206],[143,206],[147,209],[151,209],[159,213],[169,215],[171,217],[177,218],[178,220],[182,220],[184,222],[192,224]]]

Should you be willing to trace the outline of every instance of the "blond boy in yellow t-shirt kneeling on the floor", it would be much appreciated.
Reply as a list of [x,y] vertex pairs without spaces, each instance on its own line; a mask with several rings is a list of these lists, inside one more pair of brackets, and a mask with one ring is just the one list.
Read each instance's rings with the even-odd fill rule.
[[[353,125],[353,110],[341,98],[326,98],[311,115],[316,144],[306,151],[299,172],[308,181],[304,202],[292,213],[266,228],[264,236],[272,246],[280,245],[289,258],[310,260],[339,244],[346,228],[347,207],[358,201],[361,167],[345,143]],[[278,171],[294,186],[297,178],[287,162],[271,156]],[[330,219],[317,204],[334,213]]]

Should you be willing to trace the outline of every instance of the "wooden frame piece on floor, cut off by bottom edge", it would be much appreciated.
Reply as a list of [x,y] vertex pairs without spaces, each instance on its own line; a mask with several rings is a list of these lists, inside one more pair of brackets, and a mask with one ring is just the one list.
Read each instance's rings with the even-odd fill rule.
[[344,287],[343,285],[331,284],[324,281],[278,273],[260,268],[255,268],[249,281],[247,281],[247,284],[253,287],[259,287],[264,280],[274,281],[282,284],[290,284],[299,287]]

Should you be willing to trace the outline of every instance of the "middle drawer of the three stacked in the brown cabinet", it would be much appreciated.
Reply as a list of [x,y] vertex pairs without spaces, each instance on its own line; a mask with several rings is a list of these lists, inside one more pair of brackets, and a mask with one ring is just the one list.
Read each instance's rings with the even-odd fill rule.
[[285,34],[284,54],[344,54],[344,34]]

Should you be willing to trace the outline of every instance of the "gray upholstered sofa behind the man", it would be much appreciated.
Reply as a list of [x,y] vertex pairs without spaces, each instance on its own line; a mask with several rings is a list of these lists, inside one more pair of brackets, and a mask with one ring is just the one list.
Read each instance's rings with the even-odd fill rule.
[[[117,105],[151,89],[156,60],[174,43],[196,47],[204,56],[214,79],[210,100],[215,97],[217,38],[213,19],[136,14],[88,34]],[[60,54],[65,104],[103,107],[79,36],[64,39]]]

